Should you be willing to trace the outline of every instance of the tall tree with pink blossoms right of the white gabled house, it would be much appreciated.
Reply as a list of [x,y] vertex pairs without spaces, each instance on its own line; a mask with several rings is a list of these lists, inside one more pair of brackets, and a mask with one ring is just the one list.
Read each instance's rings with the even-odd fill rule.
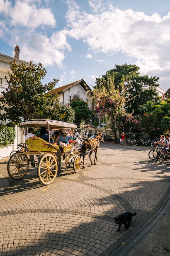
[[141,123],[136,120],[133,113],[126,113],[124,109],[124,97],[115,88],[114,78],[107,74],[106,80],[98,80],[98,86],[92,91],[92,100],[97,106],[101,117],[111,118],[112,129],[119,131],[136,131],[141,128]]

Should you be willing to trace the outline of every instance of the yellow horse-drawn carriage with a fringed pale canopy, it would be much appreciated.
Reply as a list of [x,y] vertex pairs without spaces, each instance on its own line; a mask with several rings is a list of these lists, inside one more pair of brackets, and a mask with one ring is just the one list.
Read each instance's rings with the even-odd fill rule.
[[[50,143],[50,131],[70,128],[75,129],[77,125],[62,121],[49,119],[33,119],[20,123],[24,127],[46,127],[49,134],[49,142],[40,137],[30,137],[26,140],[26,144],[22,151],[14,153],[7,165],[7,171],[11,178],[19,180],[23,178],[29,168],[37,168],[37,174],[40,182],[44,185],[51,184],[58,171],[67,169],[68,165],[73,165],[75,172],[81,167],[80,144],[73,142],[60,150],[56,144]],[[34,167],[30,165],[30,156],[34,156]]]

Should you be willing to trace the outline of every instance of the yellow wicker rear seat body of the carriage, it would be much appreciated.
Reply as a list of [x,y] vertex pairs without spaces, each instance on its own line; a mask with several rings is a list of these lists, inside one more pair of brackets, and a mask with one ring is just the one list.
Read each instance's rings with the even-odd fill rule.
[[[41,151],[41,152],[45,152],[45,151],[51,151],[51,152],[56,152],[56,150],[52,147],[47,146],[47,144],[49,144],[49,142],[47,142],[46,140],[40,138],[40,137],[31,137],[28,138],[26,140],[26,144],[28,147],[29,151]],[[59,149],[59,146],[56,144],[52,144],[54,147],[56,147],[56,149]]]

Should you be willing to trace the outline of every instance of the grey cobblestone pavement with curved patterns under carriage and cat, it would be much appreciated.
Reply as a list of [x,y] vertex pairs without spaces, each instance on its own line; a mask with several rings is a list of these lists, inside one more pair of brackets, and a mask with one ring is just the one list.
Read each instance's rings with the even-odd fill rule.
[[[97,165],[87,156],[49,186],[31,168],[11,179],[1,159],[0,255],[169,255],[170,168],[149,150],[103,143]],[[137,215],[117,232],[124,211]]]

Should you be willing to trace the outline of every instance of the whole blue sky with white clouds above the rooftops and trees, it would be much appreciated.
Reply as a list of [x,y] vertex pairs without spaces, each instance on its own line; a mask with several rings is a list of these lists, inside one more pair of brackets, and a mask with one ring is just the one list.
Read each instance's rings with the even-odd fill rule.
[[170,87],[169,0],[0,0],[0,53],[47,69],[43,83],[90,86],[116,64]]

